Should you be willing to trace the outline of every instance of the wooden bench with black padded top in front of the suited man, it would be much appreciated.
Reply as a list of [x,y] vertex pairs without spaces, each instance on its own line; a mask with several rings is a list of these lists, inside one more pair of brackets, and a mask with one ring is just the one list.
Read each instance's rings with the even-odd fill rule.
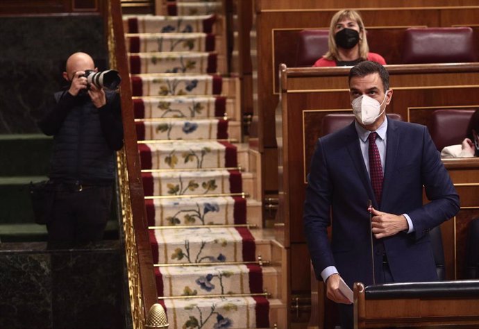
[[[354,286],[354,328],[479,328],[479,280]],[[443,327],[444,326],[444,327]]]

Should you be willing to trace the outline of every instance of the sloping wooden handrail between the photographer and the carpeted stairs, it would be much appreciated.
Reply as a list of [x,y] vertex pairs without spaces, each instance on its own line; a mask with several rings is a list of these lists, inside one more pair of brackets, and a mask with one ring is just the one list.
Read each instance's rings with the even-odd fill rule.
[[[126,242],[127,258],[132,257],[135,266],[128,264],[128,271],[138,271],[138,273],[128,273],[128,281],[130,283],[130,298],[132,302],[132,315],[135,328],[144,327],[144,319],[148,314],[151,305],[157,303],[158,296],[156,292],[156,282],[153,272],[153,256],[149,242],[148,224],[146,221],[146,210],[144,206],[144,192],[142,185],[140,157],[137,149],[137,136],[135,130],[135,118],[133,116],[133,101],[130,84],[130,72],[128,69],[128,57],[126,53],[123,19],[121,13],[120,0],[110,0],[110,19],[111,24],[108,29],[112,33],[109,40],[110,48],[110,66],[113,62],[115,69],[119,71],[123,78],[121,82],[121,114],[123,117],[124,127],[124,148],[119,156],[119,166],[124,166],[124,186],[122,189],[128,193],[123,198],[122,210],[124,216],[131,214],[132,228],[130,242]],[[112,58],[113,57],[113,58]],[[121,161],[123,160],[123,161]],[[120,169],[121,171],[121,169]],[[120,182],[121,183],[121,182]],[[129,211],[126,207],[131,206]],[[128,209],[127,209],[128,210]],[[128,219],[126,219],[128,220]],[[125,221],[125,219],[124,219]],[[126,230],[126,228],[125,228]],[[129,245],[128,245],[129,244]],[[131,255],[133,253],[133,255]],[[132,286],[133,285],[133,286]],[[135,287],[140,285],[140,287]],[[139,294],[140,296],[135,296]],[[135,305],[133,305],[135,304]],[[134,310],[134,306],[137,310]],[[135,314],[136,312],[136,314]]]

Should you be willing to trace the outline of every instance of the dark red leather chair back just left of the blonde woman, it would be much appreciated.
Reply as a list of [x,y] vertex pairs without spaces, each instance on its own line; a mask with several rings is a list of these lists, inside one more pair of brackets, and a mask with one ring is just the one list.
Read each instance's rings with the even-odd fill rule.
[[296,67],[310,67],[328,51],[328,30],[303,30],[296,48]]

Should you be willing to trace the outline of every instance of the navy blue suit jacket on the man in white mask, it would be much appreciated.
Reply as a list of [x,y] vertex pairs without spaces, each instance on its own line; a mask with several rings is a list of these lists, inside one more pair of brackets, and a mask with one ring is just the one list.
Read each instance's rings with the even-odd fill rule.
[[[423,186],[430,200],[423,205]],[[353,124],[321,137],[312,157],[303,213],[304,231],[318,280],[335,266],[351,287],[373,283],[368,200],[374,208],[408,214],[414,233],[374,240],[376,275],[386,253],[395,282],[437,280],[428,231],[453,217],[459,196],[425,126],[388,119],[380,208]],[[332,239],[327,228],[332,217]]]

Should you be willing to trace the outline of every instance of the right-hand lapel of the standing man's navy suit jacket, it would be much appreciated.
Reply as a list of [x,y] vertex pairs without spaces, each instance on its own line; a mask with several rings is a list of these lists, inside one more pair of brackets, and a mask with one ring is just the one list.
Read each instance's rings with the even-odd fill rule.
[[394,173],[396,163],[396,155],[398,153],[398,145],[399,145],[399,133],[397,133],[397,125],[396,122],[392,119],[387,119],[387,145],[386,145],[386,163],[385,163],[385,173],[384,173],[384,180],[383,180],[383,196],[381,200],[383,200],[382,207],[385,208],[385,203],[387,203],[387,194],[392,186],[392,176]]

